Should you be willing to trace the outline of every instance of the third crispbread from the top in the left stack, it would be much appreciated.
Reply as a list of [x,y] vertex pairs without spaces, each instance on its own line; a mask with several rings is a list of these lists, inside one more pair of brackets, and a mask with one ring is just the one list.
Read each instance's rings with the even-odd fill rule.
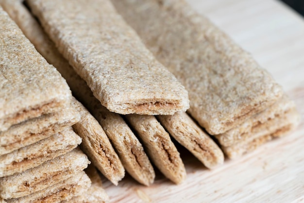
[[34,168],[71,151],[80,143],[81,138],[69,127],[39,142],[4,154],[0,156],[0,177]]

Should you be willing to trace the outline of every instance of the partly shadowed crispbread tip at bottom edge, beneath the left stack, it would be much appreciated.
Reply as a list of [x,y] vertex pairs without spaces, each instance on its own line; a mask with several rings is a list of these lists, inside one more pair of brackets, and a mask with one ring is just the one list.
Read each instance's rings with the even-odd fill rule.
[[[105,190],[102,188],[102,182],[99,174],[95,167],[91,164],[85,173],[91,179],[91,186],[86,194],[74,197],[67,203],[103,203],[109,200],[109,196],[106,194]],[[66,202],[64,202],[66,203]]]

